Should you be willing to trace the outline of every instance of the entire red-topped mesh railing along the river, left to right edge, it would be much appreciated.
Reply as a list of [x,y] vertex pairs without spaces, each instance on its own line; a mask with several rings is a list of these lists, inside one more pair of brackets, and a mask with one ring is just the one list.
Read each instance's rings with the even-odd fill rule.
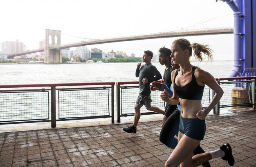
[[[219,78],[224,90],[220,102],[213,109],[249,107],[255,109],[256,77]],[[114,98],[114,85],[116,98]],[[86,82],[38,85],[0,85],[0,125],[28,122],[51,122],[93,118],[111,118],[121,122],[123,116],[133,116],[139,82]],[[159,91],[151,92],[152,106],[164,110]],[[202,107],[211,102],[214,92],[204,87]],[[116,102],[116,115],[114,104]],[[141,107],[141,115],[157,114]]]

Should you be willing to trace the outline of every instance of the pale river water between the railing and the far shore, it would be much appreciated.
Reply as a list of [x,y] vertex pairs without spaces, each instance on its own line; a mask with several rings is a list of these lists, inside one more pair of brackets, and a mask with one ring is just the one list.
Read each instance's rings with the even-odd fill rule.
[[[142,63],[143,64],[143,63]],[[191,62],[215,78],[225,78],[234,61]],[[153,63],[163,75],[164,66]],[[137,62],[85,64],[12,64],[0,65],[0,85],[137,81]]]

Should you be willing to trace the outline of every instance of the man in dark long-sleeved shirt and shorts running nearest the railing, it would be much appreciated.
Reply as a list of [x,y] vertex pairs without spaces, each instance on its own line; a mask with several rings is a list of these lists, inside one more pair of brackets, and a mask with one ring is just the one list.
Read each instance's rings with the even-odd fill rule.
[[151,59],[153,57],[152,51],[144,51],[143,54],[143,62],[145,62],[145,65],[141,66],[141,62],[138,63],[137,69],[136,69],[136,77],[139,77],[139,96],[137,98],[136,104],[135,104],[135,114],[134,114],[134,121],[132,126],[123,128],[123,130],[127,133],[136,133],[137,132],[137,124],[139,122],[139,118],[141,116],[140,108],[145,105],[147,110],[157,112],[159,114],[164,114],[164,111],[162,109],[159,109],[158,107],[151,106],[151,99],[150,99],[150,83],[153,81],[157,81],[162,78],[161,73],[157,70],[155,66],[151,64]]

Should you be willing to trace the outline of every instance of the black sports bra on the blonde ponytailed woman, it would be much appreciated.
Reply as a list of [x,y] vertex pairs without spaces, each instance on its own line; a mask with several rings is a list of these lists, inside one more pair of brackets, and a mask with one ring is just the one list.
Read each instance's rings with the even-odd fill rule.
[[202,96],[204,93],[204,86],[198,85],[198,83],[195,80],[195,69],[197,67],[192,67],[192,80],[188,84],[186,84],[183,87],[180,87],[176,85],[175,78],[178,74],[178,71],[180,71],[180,68],[176,70],[175,76],[174,76],[174,84],[173,89],[179,96],[179,98],[187,99],[187,100],[202,100]]

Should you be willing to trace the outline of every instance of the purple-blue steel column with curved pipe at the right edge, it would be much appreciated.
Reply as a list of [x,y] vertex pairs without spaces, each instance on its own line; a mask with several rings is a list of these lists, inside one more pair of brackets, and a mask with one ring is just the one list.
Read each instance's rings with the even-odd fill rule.
[[234,11],[234,70],[229,77],[256,75],[256,0],[222,0]]

